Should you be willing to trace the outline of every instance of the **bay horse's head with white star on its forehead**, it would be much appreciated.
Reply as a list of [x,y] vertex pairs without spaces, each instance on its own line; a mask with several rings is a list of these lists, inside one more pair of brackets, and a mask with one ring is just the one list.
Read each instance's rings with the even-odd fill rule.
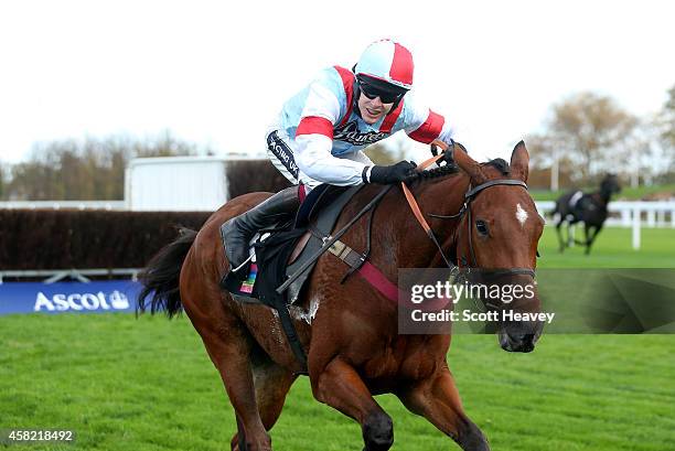
[[[457,228],[460,265],[476,268],[474,273],[481,283],[499,287],[492,291],[499,292],[497,299],[493,296],[482,298],[485,307],[499,314],[502,348],[531,352],[544,323],[533,321],[532,316],[523,320],[504,315],[507,311],[540,312],[534,270],[544,219],[525,186],[529,162],[527,149],[521,141],[513,150],[510,164],[504,160],[478,163],[457,146],[453,158],[471,181],[467,211]],[[516,299],[516,291],[523,296]]]

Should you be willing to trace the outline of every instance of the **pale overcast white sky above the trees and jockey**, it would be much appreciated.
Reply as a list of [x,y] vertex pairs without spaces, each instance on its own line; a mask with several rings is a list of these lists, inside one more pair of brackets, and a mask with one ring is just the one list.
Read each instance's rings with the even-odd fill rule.
[[572,93],[658,110],[674,18],[675,2],[647,0],[3,1],[0,161],[36,141],[163,130],[264,152],[288,97],[381,37],[411,50],[416,90],[471,153],[507,157]]

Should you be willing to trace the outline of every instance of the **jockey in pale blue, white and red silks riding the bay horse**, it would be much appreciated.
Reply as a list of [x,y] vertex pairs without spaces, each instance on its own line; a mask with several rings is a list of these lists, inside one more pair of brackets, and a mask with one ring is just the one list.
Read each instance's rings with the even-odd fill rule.
[[321,184],[349,186],[408,180],[415,163],[374,164],[363,152],[398,130],[416,141],[451,143],[442,116],[415,101],[413,55],[397,42],[372,43],[349,71],[323,69],[291,97],[267,132],[272,164],[293,186],[229,219],[221,233],[233,271],[247,261],[255,233],[297,211],[308,190]]

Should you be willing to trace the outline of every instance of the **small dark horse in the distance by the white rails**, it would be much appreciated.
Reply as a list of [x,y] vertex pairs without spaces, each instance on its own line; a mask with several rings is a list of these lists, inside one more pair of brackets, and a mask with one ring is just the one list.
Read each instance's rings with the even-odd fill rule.
[[[583,193],[579,190],[570,191],[562,194],[556,201],[556,208],[553,214],[558,214],[556,230],[558,233],[558,241],[560,243],[560,251],[572,245],[570,228],[577,223],[583,223],[583,234],[586,240],[575,240],[576,244],[586,246],[586,255],[590,254],[590,248],[602,229],[602,225],[607,219],[607,205],[609,204],[612,194],[621,192],[621,185],[615,174],[607,174],[600,182],[600,190],[593,193]],[[560,227],[562,223],[567,224],[567,241],[562,239]]]

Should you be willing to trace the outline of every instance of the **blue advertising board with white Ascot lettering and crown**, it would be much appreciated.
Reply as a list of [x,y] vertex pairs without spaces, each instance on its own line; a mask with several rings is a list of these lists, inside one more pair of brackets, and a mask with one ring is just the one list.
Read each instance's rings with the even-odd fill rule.
[[141,284],[132,280],[7,282],[0,284],[0,315],[133,312],[140,289]]

